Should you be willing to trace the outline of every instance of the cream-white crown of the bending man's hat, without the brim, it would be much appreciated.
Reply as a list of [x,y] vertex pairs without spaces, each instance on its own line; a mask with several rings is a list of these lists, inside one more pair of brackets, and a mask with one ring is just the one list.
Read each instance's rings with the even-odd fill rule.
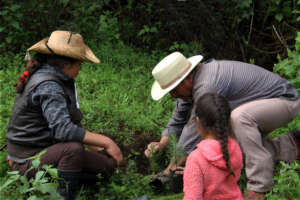
[[190,65],[190,62],[180,52],[174,52],[154,67],[152,75],[161,88],[166,88],[185,75]]

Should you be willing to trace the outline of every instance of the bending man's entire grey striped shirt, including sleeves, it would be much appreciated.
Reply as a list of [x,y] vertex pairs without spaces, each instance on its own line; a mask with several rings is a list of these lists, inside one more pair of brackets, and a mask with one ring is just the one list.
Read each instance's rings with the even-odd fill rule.
[[[238,61],[200,63],[193,73],[192,99],[187,101],[177,99],[173,115],[162,132],[163,136],[170,136],[173,133],[179,136],[187,131],[196,131],[195,122],[191,120],[194,117],[192,109],[194,102],[197,102],[205,93],[224,95],[229,100],[232,109],[259,99],[287,98],[295,100],[299,97],[296,88],[288,80],[248,63]],[[188,123],[189,120],[191,123]],[[185,126],[189,126],[189,128]],[[186,140],[195,144],[199,142],[192,141],[193,138]],[[181,141],[181,143],[184,146],[185,141]],[[189,152],[190,150],[185,148],[185,151]]]

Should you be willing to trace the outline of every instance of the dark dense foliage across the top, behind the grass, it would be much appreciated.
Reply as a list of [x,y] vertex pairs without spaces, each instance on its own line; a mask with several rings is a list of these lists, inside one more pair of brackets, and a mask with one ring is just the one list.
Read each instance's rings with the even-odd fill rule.
[[295,0],[12,0],[0,6],[1,53],[20,52],[52,30],[67,29],[148,52],[254,59],[271,70],[277,54],[285,58],[294,48],[300,29]]

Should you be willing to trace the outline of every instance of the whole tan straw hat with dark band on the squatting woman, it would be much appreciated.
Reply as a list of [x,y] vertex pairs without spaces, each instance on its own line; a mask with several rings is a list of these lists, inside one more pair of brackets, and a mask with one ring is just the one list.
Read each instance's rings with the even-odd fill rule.
[[70,31],[53,31],[50,37],[39,41],[27,51],[57,54],[93,63],[100,62],[92,50],[84,44],[82,36]]

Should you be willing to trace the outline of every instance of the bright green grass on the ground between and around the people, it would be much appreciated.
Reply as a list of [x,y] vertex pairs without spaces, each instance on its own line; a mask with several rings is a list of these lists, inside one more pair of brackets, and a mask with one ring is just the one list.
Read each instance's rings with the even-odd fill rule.
[[[165,55],[148,55],[122,43],[104,43],[91,48],[101,63],[85,63],[76,80],[80,107],[84,114],[82,124],[87,130],[112,137],[121,146],[127,166],[117,171],[108,183],[99,183],[93,189],[83,188],[80,199],[126,200],[144,194],[149,199],[182,199],[183,193],[154,194],[148,185],[154,172],[150,162],[143,155],[148,142],[159,140],[175,106],[175,101],[169,97],[155,102],[150,96],[153,83],[151,70]],[[16,96],[13,84],[24,69],[23,55],[16,55],[14,58],[0,57],[0,145],[5,142],[5,133]],[[299,121],[298,116],[288,126],[274,131],[272,135],[280,135],[294,127],[300,128]],[[5,157],[6,152],[0,152],[0,185],[7,180],[8,165]],[[293,173],[299,170],[299,165],[278,165],[276,172],[280,170],[285,170],[286,176],[275,173],[278,177],[275,179],[276,191],[273,191],[271,196],[287,193],[287,189],[282,189],[284,187],[281,185],[290,184],[291,187],[295,187],[291,183],[300,181],[299,176]],[[292,177],[289,178],[291,174]],[[245,181],[243,175],[240,181],[243,189]],[[18,196],[17,188],[11,187],[6,192],[13,192],[14,196]],[[292,197],[300,198],[300,195],[295,195]],[[39,196],[38,199],[43,197]]]

